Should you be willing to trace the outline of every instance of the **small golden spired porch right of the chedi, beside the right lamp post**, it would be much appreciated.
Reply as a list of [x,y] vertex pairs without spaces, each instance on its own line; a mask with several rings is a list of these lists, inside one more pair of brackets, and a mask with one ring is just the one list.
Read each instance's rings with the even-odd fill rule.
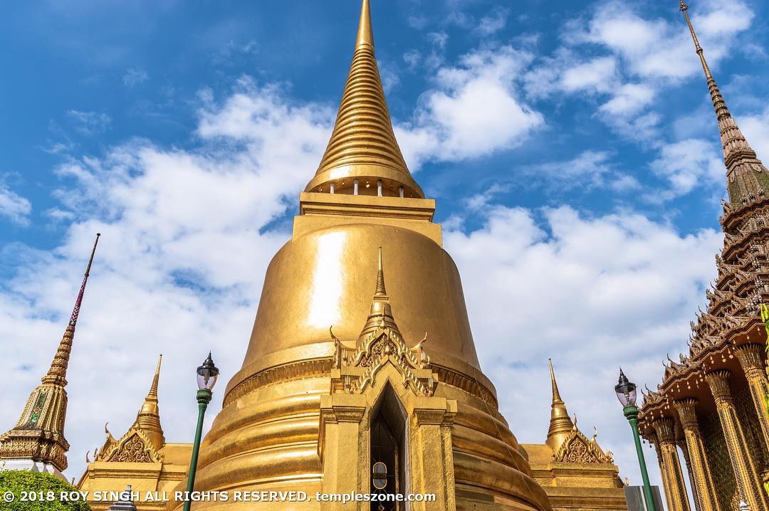
[[534,479],[548,494],[553,511],[598,511],[628,509],[624,484],[611,451],[598,445],[598,430],[591,439],[571,420],[555,380],[550,360],[553,390],[550,429],[544,444],[523,444]]

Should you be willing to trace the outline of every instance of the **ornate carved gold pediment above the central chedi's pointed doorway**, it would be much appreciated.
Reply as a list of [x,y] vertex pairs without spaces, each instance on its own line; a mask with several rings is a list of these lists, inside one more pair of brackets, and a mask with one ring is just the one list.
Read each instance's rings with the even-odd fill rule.
[[336,345],[334,368],[340,370],[335,389],[347,393],[359,393],[375,383],[377,373],[391,363],[403,378],[403,386],[414,393],[431,396],[435,389],[435,378],[430,369],[430,357],[424,352],[419,341],[408,347],[398,330],[385,327],[384,323],[368,334],[355,350],[346,348],[334,333],[331,338]]

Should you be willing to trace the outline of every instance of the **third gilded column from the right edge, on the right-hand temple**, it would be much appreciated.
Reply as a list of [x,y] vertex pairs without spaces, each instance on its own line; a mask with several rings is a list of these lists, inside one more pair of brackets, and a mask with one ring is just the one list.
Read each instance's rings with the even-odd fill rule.
[[697,494],[699,511],[721,511],[718,506],[713,474],[707,461],[705,447],[702,442],[700,424],[697,422],[695,406],[697,400],[687,399],[674,401],[673,406],[681,419],[684,428],[684,439],[688,451],[688,466],[694,479],[694,493]]

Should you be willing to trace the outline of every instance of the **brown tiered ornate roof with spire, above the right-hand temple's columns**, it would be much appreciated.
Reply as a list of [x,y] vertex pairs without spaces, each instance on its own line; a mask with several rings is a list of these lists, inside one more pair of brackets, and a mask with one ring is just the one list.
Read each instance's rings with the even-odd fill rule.
[[765,338],[759,305],[769,301],[769,257],[761,242],[769,234],[769,171],[731,117],[704,58],[688,9],[681,0],[681,11],[707,79],[721,133],[730,202],[723,203],[724,247],[715,257],[717,278],[705,290],[707,307],[698,310],[696,320],[690,323],[688,353],[679,355],[677,360],[668,356],[661,385],[643,394],[641,423],[649,423],[655,416],[674,416],[674,400],[702,398],[701,407],[709,406],[711,398],[704,373],[738,370],[735,350]]

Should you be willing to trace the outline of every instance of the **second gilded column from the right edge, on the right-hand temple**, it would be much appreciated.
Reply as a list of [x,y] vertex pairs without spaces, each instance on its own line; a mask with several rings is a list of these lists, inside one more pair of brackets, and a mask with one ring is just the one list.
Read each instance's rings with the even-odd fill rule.
[[747,446],[745,433],[737,418],[737,410],[734,408],[729,388],[730,376],[731,372],[724,369],[707,373],[705,379],[716,401],[716,410],[721,420],[721,429],[724,430],[724,440],[729,451],[737,491],[750,506],[751,511],[769,511],[767,496],[761,488],[761,478],[758,475],[756,462]]

